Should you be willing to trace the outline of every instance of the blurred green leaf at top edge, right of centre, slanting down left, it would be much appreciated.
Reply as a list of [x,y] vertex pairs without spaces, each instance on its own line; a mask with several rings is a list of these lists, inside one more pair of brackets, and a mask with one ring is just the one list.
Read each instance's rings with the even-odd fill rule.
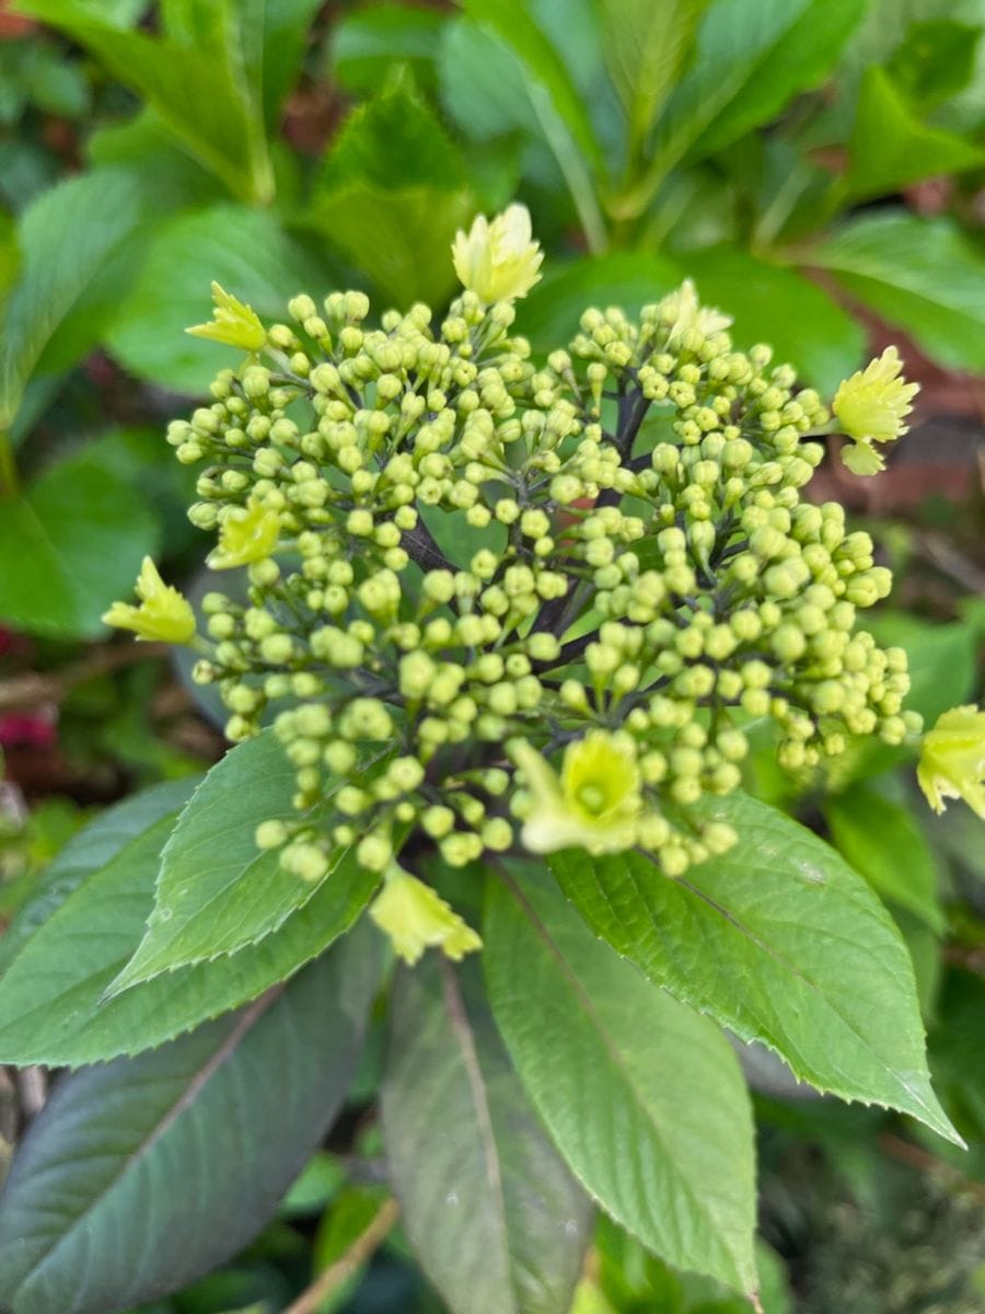
[[642,198],[686,156],[724,150],[817,85],[862,17],[858,0],[716,0],[691,71],[657,125]]

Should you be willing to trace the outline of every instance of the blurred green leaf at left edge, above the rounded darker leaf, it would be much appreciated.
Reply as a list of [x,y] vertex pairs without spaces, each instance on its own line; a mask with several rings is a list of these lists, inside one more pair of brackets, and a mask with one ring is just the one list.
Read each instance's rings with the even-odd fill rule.
[[79,313],[80,302],[144,219],[139,184],[117,170],[59,183],[25,210],[18,231],[21,276],[0,344],[0,430],[11,426],[58,330],[63,338],[71,335],[72,351],[63,355],[74,359],[98,340],[104,321]]

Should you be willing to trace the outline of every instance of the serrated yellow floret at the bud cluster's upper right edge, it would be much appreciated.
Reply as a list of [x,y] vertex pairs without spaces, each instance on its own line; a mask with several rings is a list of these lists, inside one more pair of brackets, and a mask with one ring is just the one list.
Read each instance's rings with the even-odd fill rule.
[[852,474],[877,474],[885,465],[875,443],[892,443],[908,430],[910,402],[919,384],[900,378],[902,361],[896,347],[886,347],[881,356],[839,384],[831,409],[844,434],[854,439],[842,451],[842,460]]

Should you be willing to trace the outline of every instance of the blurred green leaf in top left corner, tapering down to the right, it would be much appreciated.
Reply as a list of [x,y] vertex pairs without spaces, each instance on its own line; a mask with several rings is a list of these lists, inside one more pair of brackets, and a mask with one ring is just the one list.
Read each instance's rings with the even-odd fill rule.
[[[98,21],[79,0],[25,0],[22,8],[91,50],[232,193],[247,201],[272,198],[261,101],[244,45],[251,18],[239,7],[215,0],[200,41],[189,33],[180,33],[188,38],[183,41],[121,30]],[[194,35],[201,35],[198,29]]]

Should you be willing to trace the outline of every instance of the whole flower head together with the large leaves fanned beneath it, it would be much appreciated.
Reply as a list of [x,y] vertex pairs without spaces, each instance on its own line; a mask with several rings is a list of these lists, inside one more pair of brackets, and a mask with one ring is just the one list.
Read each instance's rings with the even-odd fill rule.
[[[265,327],[214,286],[214,322],[190,330],[247,353],[168,430],[204,466],[189,514],[215,536],[209,568],[246,581],[205,595],[196,636],[146,561],[139,606],[105,619],[190,643],[238,746],[190,798],[110,813],[95,863],[70,846],[12,933],[3,1058],[117,1060],[59,1088],[12,1168],[0,1288],[18,1314],[150,1298],[215,1261],[196,1221],[227,1218],[229,1252],[269,1217],[381,988],[364,909],[418,964],[391,976],[382,1126],[407,1236],[456,1314],[566,1314],[592,1200],[758,1302],[753,1127],[722,1028],[960,1142],[896,926],[742,790],[754,737],[799,777],[862,737],[919,740],[904,650],[856,627],[890,574],[839,505],[804,495],[838,426],[846,464],[877,469],[914,386],[890,350],[833,420],[690,283],[636,319],[586,310],[535,361],[514,301],[540,263],[512,206],[458,235],[464,292],[440,322],[415,305],[376,327],[345,292]],[[981,774],[982,714],[947,712],[927,796],[981,812]],[[244,1088],[231,1059],[260,1054]],[[146,1176],[126,1137],[102,1185],[55,1171],[106,1100],[167,1101],[189,1066],[205,1075],[141,1143]],[[200,1180],[196,1141],[227,1109],[269,1143],[230,1141]],[[77,1229],[18,1248],[53,1173],[92,1196],[87,1218],[159,1189],[167,1277],[104,1259],[80,1282]]]

